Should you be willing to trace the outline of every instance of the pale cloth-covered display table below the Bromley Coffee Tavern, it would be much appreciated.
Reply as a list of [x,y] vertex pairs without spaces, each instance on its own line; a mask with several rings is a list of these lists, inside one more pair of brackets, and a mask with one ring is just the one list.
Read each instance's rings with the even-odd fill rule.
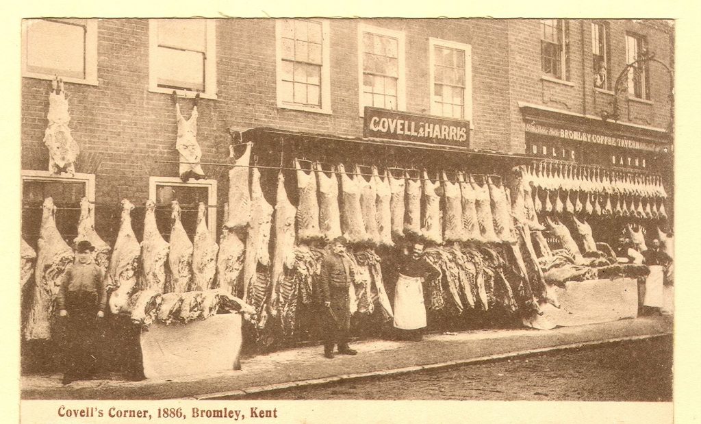
[[556,326],[578,326],[635,318],[638,315],[636,279],[594,279],[567,281],[563,287],[550,286],[560,307],[543,305],[543,316]]

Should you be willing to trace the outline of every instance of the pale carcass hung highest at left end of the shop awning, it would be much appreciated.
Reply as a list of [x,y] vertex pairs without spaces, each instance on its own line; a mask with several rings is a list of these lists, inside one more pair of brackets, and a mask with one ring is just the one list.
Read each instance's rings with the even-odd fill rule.
[[[225,221],[224,227],[233,230],[243,228],[248,225],[251,219],[251,194],[249,191],[248,166],[251,159],[251,146],[253,143],[246,143],[246,150],[241,157],[236,159],[236,163],[229,170],[229,218]],[[172,244],[172,241],[170,241]]]

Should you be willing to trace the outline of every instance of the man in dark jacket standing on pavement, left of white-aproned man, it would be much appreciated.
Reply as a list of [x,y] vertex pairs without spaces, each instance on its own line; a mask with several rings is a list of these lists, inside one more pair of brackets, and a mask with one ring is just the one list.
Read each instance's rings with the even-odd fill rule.
[[334,357],[334,345],[341,355],[358,352],[348,347],[348,332],[351,329],[351,306],[348,290],[355,274],[353,264],[346,253],[346,239],[336,237],[331,242],[331,253],[321,263],[319,300],[322,303],[322,332],[324,333],[324,356]]

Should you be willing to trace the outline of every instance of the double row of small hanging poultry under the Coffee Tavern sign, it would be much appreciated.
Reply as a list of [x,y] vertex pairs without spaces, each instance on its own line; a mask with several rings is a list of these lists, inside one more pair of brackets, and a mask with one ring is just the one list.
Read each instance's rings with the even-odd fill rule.
[[667,192],[658,175],[546,162],[520,168],[536,213],[667,219]]

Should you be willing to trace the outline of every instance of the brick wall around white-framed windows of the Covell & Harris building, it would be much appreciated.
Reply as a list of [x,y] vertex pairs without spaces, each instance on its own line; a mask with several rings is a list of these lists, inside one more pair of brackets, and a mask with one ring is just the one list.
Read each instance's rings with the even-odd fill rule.
[[[202,161],[228,156],[228,129],[272,126],[292,131],[362,136],[358,116],[358,20],[331,20],[333,114],[278,109],[274,20],[217,20],[217,100],[200,99],[198,142]],[[507,22],[499,20],[374,20],[406,34],[407,110],[428,113],[428,38],[472,45],[473,147],[509,150]],[[98,86],[66,84],[71,124],[81,147],[76,171],[94,173],[96,199],[127,197],[142,204],[149,175],[177,176],[175,106],[170,95],[149,92],[149,22],[100,20]],[[22,168],[46,169],[43,133],[50,81],[22,79]],[[181,99],[187,118],[192,100]],[[226,168],[205,166],[227,190]],[[118,208],[96,208],[97,231],[111,240]],[[135,216],[135,221],[138,220]],[[221,219],[221,217],[220,217]],[[138,225],[137,227],[138,232]],[[138,235],[138,234],[137,234]]]

